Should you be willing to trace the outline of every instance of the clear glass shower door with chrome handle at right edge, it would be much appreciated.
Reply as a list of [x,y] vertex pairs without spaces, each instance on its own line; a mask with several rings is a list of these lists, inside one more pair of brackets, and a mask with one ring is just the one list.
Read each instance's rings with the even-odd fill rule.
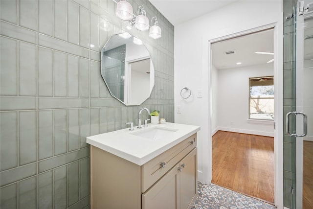
[[296,137],[294,207],[313,209],[313,0],[298,1],[294,15],[296,111],[286,129]]

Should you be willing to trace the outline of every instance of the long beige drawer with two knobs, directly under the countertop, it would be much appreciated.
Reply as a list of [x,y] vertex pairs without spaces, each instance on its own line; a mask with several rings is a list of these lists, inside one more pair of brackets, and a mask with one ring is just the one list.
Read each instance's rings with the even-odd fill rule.
[[197,134],[194,134],[143,164],[141,166],[141,192],[145,192],[196,146]]

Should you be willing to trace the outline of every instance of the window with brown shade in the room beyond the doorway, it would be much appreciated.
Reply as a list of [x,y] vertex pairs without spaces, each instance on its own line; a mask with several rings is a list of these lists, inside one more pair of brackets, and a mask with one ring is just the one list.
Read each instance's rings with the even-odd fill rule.
[[274,77],[249,78],[249,119],[274,120]]

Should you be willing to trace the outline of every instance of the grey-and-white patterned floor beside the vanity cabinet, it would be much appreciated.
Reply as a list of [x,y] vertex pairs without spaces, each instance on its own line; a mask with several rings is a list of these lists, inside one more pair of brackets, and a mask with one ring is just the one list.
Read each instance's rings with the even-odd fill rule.
[[222,186],[198,182],[198,198],[191,209],[276,209],[276,207]]

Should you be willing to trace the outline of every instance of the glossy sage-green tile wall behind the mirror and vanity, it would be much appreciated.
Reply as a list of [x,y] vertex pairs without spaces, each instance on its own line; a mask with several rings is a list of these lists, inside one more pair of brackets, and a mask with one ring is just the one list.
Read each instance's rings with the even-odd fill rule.
[[129,31],[156,76],[151,97],[126,107],[100,75],[101,48],[127,30],[114,1],[0,0],[1,209],[89,208],[86,137],[136,124],[141,107],[174,122],[174,26],[149,1],[130,3],[157,17],[162,38]]

